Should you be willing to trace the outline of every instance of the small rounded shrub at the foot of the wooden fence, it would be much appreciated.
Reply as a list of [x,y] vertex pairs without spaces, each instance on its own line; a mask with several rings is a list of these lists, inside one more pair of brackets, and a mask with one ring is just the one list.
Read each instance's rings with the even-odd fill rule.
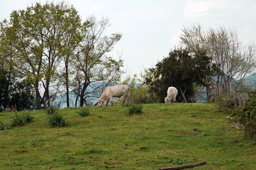
[[237,108],[233,95],[217,95],[214,98],[214,103],[217,104],[217,107],[220,111],[227,113],[231,113],[233,109]]

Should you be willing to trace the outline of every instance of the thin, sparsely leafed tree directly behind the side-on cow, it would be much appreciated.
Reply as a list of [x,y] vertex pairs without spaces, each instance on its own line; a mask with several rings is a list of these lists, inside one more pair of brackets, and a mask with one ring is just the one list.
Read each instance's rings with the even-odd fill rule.
[[86,31],[82,35],[84,38],[73,62],[76,80],[73,92],[80,98],[80,106],[89,105],[88,101],[99,97],[107,86],[117,83],[123,73],[120,69],[123,67],[121,57],[114,60],[106,55],[121,39],[122,34],[104,35],[104,31],[111,26],[107,17],[102,16],[97,20],[96,16],[91,15],[87,17],[87,21]]

